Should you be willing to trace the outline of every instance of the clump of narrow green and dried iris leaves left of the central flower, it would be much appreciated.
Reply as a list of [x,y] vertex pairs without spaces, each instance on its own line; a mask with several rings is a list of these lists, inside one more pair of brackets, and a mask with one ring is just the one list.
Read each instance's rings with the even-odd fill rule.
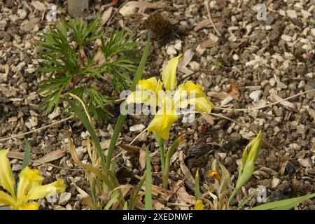
[[[146,48],[144,50],[144,54],[142,56],[141,62],[139,64],[139,67],[137,69],[137,73],[133,80],[133,85],[131,87],[132,90],[135,89],[135,83],[138,82],[138,80],[141,78],[144,66],[146,64],[146,59],[148,57],[148,50],[150,46],[150,36],[148,37],[148,41],[146,43]],[[90,89],[91,91],[91,89]],[[94,91],[94,90],[92,90]],[[70,99],[72,97],[74,100],[76,100],[80,106],[78,106],[73,99]],[[144,181],[146,181],[146,186],[148,189],[150,189],[150,186],[152,184],[152,178],[151,178],[151,171],[148,169],[146,175],[141,179],[139,182],[135,192],[132,191],[132,194],[130,195],[130,200],[125,201],[124,195],[122,193],[121,188],[132,188],[133,186],[121,186],[118,182],[118,179],[115,176],[115,162],[112,161],[111,155],[113,153],[113,149],[110,148],[116,146],[116,141],[118,139],[121,127],[120,125],[123,124],[123,121],[125,118],[120,115],[118,118],[118,123],[116,125],[116,128],[113,133],[113,137],[111,139],[111,144],[113,146],[109,146],[109,151],[107,153],[106,160],[104,158],[104,152],[102,151],[102,148],[99,144],[99,140],[97,138],[97,134],[94,130],[94,127],[92,125],[92,121],[89,114],[88,106],[85,105],[85,102],[83,102],[80,97],[78,97],[76,94],[69,93],[69,96],[66,97],[67,101],[69,103],[69,106],[71,106],[71,109],[76,114],[76,116],[80,119],[81,123],[84,125],[85,129],[89,132],[90,137],[92,137],[92,148],[90,147],[90,139],[86,140],[86,146],[87,146],[87,152],[89,154],[91,165],[86,165],[83,162],[80,161],[78,158],[78,155],[76,153],[76,147],[74,146],[73,140],[69,135],[66,135],[66,137],[69,139],[69,151],[71,153],[71,156],[76,162],[77,165],[79,165],[81,168],[85,170],[85,174],[87,176],[88,181],[90,182],[90,188],[91,188],[91,196],[85,195],[85,202],[87,202],[88,206],[91,209],[113,209],[117,208],[117,204],[119,205],[120,209],[134,209],[134,205],[138,200],[138,195],[141,190],[141,187],[144,184]],[[99,100],[99,99],[97,99]],[[83,111],[82,111],[83,109]],[[147,166],[149,166],[150,159],[147,158]],[[101,170],[101,171],[100,171]],[[150,190],[148,190],[148,193],[150,193]],[[152,200],[150,201],[150,198],[148,197],[148,193],[146,193],[146,206],[148,208],[152,207]],[[109,195],[109,200],[104,204],[99,200],[99,198],[102,195]],[[151,203],[151,204],[150,204]]]

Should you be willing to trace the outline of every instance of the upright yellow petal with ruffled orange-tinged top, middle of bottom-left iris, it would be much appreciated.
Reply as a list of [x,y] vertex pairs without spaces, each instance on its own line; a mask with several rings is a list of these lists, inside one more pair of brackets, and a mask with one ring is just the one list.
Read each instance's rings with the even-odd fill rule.
[[17,198],[19,203],[26,203],[26,195],[31,188],[41,186],[43,183],[43,177],[38,169],[29,169],[25,167],[19,175],[20,181],[18,183]]

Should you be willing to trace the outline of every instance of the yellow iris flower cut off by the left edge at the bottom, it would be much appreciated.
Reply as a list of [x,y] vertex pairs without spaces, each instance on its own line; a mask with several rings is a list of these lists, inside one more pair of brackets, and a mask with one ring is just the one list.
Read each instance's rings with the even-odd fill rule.
[[38,200],[42,197],[61,193],[66,190],[64,180],[42,185],[43,177],[38,169],[25,167],[20,173],[20,181],[15,190],[15,179],[6,157],[8,150],[0,150],[0,205],[10,205],[13,210],[38,210]]

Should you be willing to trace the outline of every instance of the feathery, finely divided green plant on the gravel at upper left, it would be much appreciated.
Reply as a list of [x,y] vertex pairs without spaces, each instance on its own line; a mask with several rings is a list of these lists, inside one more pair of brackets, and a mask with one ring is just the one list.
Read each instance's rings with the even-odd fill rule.
[[[55,29],[43,34],[40,55],[43,64],[38,71],[50,73],[43,80],[38,93],[45,99],[41,106],[50,113],[57,109],[66,92],[76,94],[88,105],[88,112],[97,120],[112,116],[106,109],[113,102],[102,86],[111,79],[113,90],[130,86],[130,74],[137,70],[139,60],[134,57],[138,43],[124,30],[102,31],[99,18],[86,22],[83,18],[61,20]],[[101,40],[99,49],[94,41]],[[99,58],[98,51],[102,54]],[[77,100],[74,101],[80,106]],[[71,111],[65,106],[64,111]]]

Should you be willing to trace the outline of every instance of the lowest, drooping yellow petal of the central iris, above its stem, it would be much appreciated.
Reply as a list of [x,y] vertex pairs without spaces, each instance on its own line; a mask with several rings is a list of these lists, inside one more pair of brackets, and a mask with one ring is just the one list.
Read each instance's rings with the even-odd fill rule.
[[162,139],[169,139],[169,130],[174,122],[179,118],[176,114],[159,114],[157,113],[151,123],[148,125],[148,132],[155,132]]

